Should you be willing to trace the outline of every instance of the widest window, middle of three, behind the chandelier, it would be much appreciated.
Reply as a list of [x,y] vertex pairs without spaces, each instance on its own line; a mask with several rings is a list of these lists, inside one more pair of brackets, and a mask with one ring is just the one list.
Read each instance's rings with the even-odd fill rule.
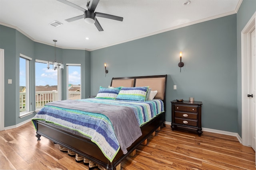
[[40,110],[48,102],[60,100],[60,69],[53,70],[52,64],[47,69],[48,61],[37,60],[35,63],[36,110]]

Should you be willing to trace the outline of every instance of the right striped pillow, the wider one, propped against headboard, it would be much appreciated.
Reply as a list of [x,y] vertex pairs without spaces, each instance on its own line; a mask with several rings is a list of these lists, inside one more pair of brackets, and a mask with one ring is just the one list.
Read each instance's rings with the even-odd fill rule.
[[145,101],[146,94],[148,91],[147,87],[122,87],[116,100],[137,100]]

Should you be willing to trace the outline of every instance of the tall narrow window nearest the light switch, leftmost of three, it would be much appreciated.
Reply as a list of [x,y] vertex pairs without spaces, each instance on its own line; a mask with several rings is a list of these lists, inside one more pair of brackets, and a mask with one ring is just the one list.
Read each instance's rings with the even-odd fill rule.
[[31,111],[30,106],[30,88],[29,88],[29,70],[32,59],[26,55],[20,54],[20,116],[27,115]]

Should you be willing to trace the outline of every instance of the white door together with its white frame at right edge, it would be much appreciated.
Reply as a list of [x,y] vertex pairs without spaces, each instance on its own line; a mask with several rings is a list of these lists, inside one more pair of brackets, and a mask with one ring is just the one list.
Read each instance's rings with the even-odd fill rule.
[[[242,145],[254,147],[255,149],[255,133],[256,133],[256,106],[255,102],[253,104],[252,99],[256,100],[256,94],[254,92],[253,98],[247,97],[247,95],[252,94],[252,88],[256,84],[256,73],[254,71],[254,76],[251,76],[253,72],[252,68],[256,68],[256,57],[255,57],[255,23],[256,23],[256,13],[250,18],[248,23],[245,25],[244,29],[241,31],[241,58],[242,58]],[[254,62],[251,62],[254,60]],[[254,63],[254,64],[251,64]],[[253,80],[252,80],[253,79]],[[252,83],[255,82],[255,83]],[[254,106],[253,106],[254,105]],[[252,107],[254,107],[252,109]],[[255,154],[256,157],[256,154]]]

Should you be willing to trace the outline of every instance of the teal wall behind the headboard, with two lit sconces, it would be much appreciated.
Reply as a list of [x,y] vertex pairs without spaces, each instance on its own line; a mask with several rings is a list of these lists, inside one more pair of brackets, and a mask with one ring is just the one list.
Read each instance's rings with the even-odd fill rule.
[[237,132],[236,46],[234,14],[91,51],[91,93],[112,77],[168,74],[166,121],[172,121],[170,101],[194,97],[203,102],[202,127]]

